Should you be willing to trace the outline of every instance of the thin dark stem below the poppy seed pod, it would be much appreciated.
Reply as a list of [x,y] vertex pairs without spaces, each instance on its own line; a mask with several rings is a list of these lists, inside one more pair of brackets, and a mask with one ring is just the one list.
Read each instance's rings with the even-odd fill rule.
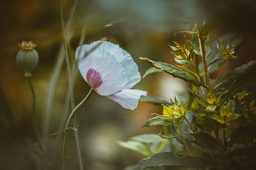
[[42,156],[44,157],[45,160],[45,164],[46,164],[46,157],[45,157],[45,152],[44,152],[44,146],[42,143],[42,139],[38,130],[38,124],[36,122],[36,95],[35,95],[35,90],[34,87],[31,83],[31,80],[29,77],[27,77],[28,83],[29,83],[29,87],[32,93],[32,99],[33,99],[33,127],[35,129],[35,134],[36,134],[36,139],[38,140],[38,145],[40,147],[40,150],[42,152]]

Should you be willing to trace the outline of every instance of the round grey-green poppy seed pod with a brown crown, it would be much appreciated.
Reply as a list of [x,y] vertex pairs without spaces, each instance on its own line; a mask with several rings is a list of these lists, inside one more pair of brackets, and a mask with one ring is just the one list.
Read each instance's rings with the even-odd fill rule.
[[17,53],[16,61],[18,66],[25,71],[25,76],[31,76],[31,70],[35,69],[38,63],[38,53],[34,49],[36,44],[33,41],[22,41],[18,43],[21,48],[19,53]]

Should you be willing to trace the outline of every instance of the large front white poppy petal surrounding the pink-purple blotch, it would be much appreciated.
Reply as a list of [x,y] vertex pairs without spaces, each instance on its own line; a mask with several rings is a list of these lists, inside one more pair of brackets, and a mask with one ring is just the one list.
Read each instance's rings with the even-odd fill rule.
[[[78,62],[78,68],[84,80],[86,80],[89,69],[95,69],[100,74],[102,85],[94,89],[95,92],[102,96],[108,96],[122,90],[128,79],[124,67],[116,60],[116,57],[106,50],[97,48],[83,58],[86,52],[88,52],[88,45],[77,48],[76,59],[81,59]],[[88,83],[87,80],[86,82]]]

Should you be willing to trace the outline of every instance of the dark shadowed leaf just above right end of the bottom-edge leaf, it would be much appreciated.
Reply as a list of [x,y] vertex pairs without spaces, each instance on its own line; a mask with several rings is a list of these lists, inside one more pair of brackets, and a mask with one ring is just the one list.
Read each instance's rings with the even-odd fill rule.
[[191,133],[191,135],[195,138],[196,143],[204,148],[207,148],[209,150],[223,149],[223,146],[218,143],[215,138],[205,132],[195,132]]

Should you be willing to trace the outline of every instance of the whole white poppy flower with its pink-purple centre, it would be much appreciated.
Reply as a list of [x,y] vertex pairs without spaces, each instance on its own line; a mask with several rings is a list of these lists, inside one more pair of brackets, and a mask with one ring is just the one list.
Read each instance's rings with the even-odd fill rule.
[[[93,47],[95,50],[90,52]],[[89,55],[84,57],[88,52]],[[147,96],[145,91],[131,89],[141,80],[141,76],[131,55],[120,46],[107,41],[95,41],[90,45],[79,46],[76,59],[79,71],[90,87],[122,107],[134,110],[140,96]]]

